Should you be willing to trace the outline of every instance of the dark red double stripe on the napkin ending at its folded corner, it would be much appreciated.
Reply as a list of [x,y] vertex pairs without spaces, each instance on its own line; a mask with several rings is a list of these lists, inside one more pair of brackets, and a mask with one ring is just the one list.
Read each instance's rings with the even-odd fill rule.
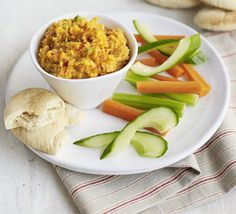
[[144,192],[128,199],[128,201],[120,202],[120,203],[118,203],[118,204],[116,204],[112,207],[109,207],[109,208],[107,208],[103,211],[103,214],[112,213],[114,211],[117,211],[118,209],[121,209],[124,206],[129,206],[129,205],[131,205],[131,204],[133,204],[133,203],[135,203],[139,200],[142,200],[146,197],[149,197],[149,196],[155,194],[156,192],[161,191],[163,188],[171,185],[172,183],[177,182],[178,180],[180,180],[188,172],[189,172],[189,168],[184,169],[184,170],[180,170],[180,172],[176,176],[169,177],[168,179],[165,180],[166,182],[163,182],[163,184],[155,185],[151,190],[149,189],[147,191],[144,191]]

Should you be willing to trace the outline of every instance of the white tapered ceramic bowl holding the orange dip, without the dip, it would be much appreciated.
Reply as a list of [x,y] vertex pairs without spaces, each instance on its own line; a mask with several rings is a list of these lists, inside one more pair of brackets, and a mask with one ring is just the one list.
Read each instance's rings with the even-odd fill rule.
[[[121,28],[125,33],[130,49],[130,60],[127,65],[114,73],[88,79],[63,79],[47,73],[39,65],[37,60],[40,40],[50,24],[63,18],[73,18],[76,15],[86,17],[88,19],[91,19],[92,17],[98,17],[99,23],[104,24],[108,28]],[[77,106],[80,109],[95,108],[99,106],[105,99],[109,98],[123,79],[125,73],[134,63],[137,52],[138,45],[131,31],[111,17],[93,12],[77,12],[57,17],[41,27],[34,34],[30,43],[31,59],[45,81],[62,99],[72,105]]]

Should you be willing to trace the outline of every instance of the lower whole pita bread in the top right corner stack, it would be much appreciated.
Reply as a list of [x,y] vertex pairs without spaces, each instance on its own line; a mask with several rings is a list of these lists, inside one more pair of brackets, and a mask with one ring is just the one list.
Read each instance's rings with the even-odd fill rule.
[[200,28],[212,31],[231,31],[236,29],[236,11],[226,11],[207,7],[201,9],[194,22]]

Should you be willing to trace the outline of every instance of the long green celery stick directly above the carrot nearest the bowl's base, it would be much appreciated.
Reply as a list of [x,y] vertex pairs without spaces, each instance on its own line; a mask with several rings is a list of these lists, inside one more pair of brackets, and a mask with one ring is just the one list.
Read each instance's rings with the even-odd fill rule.
[[184,110],[186,108],[185,103],[170,100],[168,98],[166,99],[144,95],[115,93],[112,99],[136,108],[141,108],[143,106],[142,109],[160,106],[168,107],[173,109],[173,111],[175,111],[180,117],[183,116]]

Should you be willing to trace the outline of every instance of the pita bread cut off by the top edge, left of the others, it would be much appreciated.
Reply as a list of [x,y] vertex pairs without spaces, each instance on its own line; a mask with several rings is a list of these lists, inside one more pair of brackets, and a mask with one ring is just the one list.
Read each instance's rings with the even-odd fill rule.
[[200,4],[198,0],[146,0],[147,2],[171,9],[191,8]]

